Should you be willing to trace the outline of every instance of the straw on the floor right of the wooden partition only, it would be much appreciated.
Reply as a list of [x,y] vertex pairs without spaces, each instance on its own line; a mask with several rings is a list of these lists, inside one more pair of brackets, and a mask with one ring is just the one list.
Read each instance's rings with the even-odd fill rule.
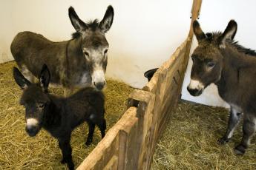
[[228,109],[181,101],[157,143],[152,169],[256,169],[255,137],[246,154],[233,152],[242,137],[242,123],[229,143],[217,143],[228,118]]

